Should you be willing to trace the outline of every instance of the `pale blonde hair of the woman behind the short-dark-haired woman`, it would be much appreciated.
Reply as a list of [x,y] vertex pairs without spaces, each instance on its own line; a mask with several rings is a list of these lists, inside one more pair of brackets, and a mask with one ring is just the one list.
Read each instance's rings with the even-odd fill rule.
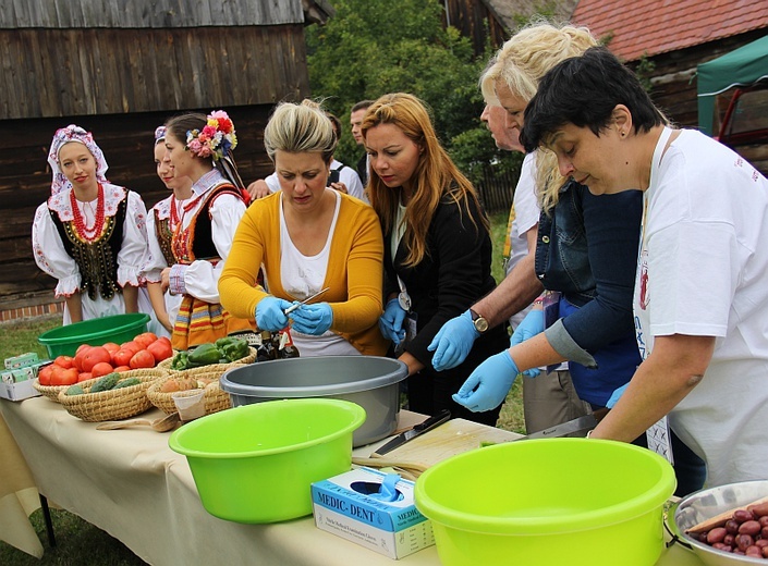
[[[486,66],[479,81],[483,97],[489,103],[498,104],[496,87],[503,83],[527,102],[549,70],[596,45],[597,39],[586,27],[554,25],[544,21],[528,24],[512,36]],[[541,210],[549,211],[558,204],[560,188],[565,181],[560,174],[554,153],[539,149],[536,156],[536,188]]]

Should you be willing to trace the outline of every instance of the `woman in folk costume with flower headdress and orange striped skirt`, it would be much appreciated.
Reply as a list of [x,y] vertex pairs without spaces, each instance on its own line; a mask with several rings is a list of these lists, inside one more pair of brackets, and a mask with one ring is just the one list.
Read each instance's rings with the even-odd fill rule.
[[188,176],[193,183],[173,232],[175,263],[162,270],[163,288],[183,295],[171,343],[174,349],[187,349],[255,329],[253,320],[234,318],[223,309],[218,290],[247,193],[232,159],[237,138],[227,112],[182,114],[167,127],[166,149],[174,175]]

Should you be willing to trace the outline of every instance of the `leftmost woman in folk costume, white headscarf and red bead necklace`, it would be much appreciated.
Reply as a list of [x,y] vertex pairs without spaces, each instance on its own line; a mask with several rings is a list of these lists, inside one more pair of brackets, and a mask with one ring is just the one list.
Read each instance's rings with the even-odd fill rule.
[[151,312],[138,292],[147,247],[142,198],[107,181],[101,149],[74,124],[56,132],[48,162],[51,197],[35,212],[32,246],[38,267],[59,280],[63,323]]

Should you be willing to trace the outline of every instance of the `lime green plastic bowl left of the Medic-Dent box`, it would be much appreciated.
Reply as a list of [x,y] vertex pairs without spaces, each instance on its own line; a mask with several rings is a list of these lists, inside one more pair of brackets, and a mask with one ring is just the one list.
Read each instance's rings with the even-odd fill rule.
[[214,413],[168,441],[190,464],[203,506],[236,522],[312,513],[312,490],[352,467],[352,432],[365,410],[348,401],[269,401]]

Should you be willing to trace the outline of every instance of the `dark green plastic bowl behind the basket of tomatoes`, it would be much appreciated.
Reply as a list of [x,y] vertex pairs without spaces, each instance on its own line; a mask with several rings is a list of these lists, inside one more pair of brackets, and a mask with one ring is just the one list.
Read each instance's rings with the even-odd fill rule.
[[48,348],[51,358],[74,356],[83,344],[100,346],[107,342],[122,344],[147,331],[149,315],[131,312],[74,322],[44,332],[37,341]]

